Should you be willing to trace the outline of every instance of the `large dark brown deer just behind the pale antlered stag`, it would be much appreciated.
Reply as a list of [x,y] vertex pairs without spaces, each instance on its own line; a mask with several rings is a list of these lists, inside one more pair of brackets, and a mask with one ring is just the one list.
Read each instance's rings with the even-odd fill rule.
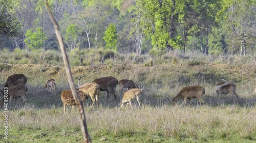
[[106,100],[110,98],[113,94],[116,100],[116,85],[118,84],[118,80],[115,77],[101,77],[94,79],[92,82],[99,84],[100,91],[106,91]]

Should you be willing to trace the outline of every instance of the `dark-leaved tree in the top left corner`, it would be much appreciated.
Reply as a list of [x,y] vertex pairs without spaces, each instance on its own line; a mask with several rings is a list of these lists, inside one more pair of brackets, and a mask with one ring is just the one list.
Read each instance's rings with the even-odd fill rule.
[[0,47],[5,38],[16,37],[20,34],[20,24],[10,0],[0,0]]

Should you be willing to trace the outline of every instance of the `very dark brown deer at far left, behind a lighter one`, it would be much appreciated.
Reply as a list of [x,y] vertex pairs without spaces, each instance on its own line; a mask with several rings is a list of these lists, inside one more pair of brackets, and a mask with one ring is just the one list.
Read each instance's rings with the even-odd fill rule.
[[7,78],[5,87],[11,88],[18,84],[26,84],[28,78],[24,74],[13,74]]

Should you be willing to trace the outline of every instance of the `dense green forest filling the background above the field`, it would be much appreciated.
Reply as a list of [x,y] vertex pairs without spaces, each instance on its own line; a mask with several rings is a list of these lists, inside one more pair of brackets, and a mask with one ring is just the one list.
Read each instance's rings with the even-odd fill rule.
[[[44,1],[0,0],[0,46],[58,49]],[[49,0],[66,48],[255,52],[255,0]]]

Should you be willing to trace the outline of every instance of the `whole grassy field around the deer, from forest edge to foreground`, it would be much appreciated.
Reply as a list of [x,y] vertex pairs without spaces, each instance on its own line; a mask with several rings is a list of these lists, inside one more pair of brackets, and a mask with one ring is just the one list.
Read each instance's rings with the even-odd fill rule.
[[[232,58],[229,58],[232,59]],[[206,60],[210,61],[210,59]],[[103,76],[132,79],[144,85],[143,106],[137,101],[131,108],[120,108],[123,93],[114,101],[101,92],[100,106],[90,109],[91,99],[84,102],[89,134],[93,142],[255,142],[256,141],[256,63],[233,58],[232,62],[174,62],[173,64],[102,64],[72,67],[74,76],[87,74],[81,82]],[[230,60],[229,60],[230,61]],[[151,65],[152,64],[152,65]],[[28,77],[27,104],[13,100],[9,108],[8,140],[4,138],[4,115],[0,115],[0,142],[82,142],[77,110],[63,113],[60,92],[69,89],[65,70],[52,65],[0,64],[1,87],[7,77],[23,73]],[[220,78],[234,81],[239,102],[233,105],[231,95],[223,95],[217,103],[214,87]],[[56,96],[45,90],[50,78],[57,81]],[[76,81],[77,83],[77,81]],[[187,85],[205,88],[205,105],[182,106],[181,100],[171,106]],[[125,90],[124,90],[125,91]],[[1,109],[2,110],[2,109]],[[3,110],[2,110],[3,111]]]

